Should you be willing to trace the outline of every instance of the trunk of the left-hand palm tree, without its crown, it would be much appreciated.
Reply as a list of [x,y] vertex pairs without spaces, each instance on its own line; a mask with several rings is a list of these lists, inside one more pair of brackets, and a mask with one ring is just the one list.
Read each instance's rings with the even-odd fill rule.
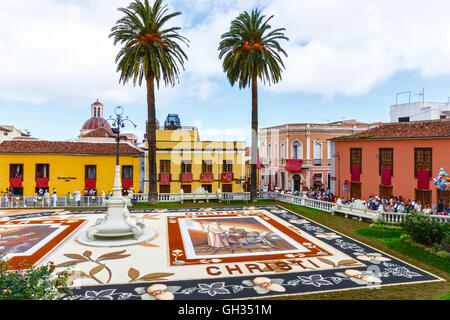
[[155,75],[151,68],[147,74],[147,108],[148,201],[157,203]]

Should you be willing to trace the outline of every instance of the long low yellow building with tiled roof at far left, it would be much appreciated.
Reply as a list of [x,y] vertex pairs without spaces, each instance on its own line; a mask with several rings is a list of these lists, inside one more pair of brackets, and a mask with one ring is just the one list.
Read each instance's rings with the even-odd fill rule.
[[[120,143],[122,187],[140,186],[144,152],[130,143]],[[9,140],[0,143],[0,191],[32,196],[40,188],[52,194],[71,194],[84,189],[100,195],[112,191],[116,144],[42,140]]]

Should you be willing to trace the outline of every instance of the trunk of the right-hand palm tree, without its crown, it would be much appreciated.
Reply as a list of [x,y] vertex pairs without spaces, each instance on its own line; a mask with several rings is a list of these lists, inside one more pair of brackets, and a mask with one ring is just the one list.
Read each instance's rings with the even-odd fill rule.
[[256,180],[257,180],[257,157],[258,157],[258,77],[256,70],[252,75],[252,148],[250,155],[250,199],[258,200]]

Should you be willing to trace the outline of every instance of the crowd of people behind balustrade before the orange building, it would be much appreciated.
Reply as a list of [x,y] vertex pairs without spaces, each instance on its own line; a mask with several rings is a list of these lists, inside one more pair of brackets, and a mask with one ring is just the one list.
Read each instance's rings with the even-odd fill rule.
[[301,191],[288,191],[280,189],[275,189],[274,191],[280,194],[290,194],[298,197],[306,196],[309,199],[327,202],[340,202],[342,204],[348,204],[351,202],[359,206],[364,206],[370,210],[380,210],[382,208],[385,212],[410,213],[414,211],[425,214],[450,215],[450,204],[448,207],[445,207],[444,203],[440,202],[437,207],[433,209],[429,204],[424,205],[418,200],[404,199],[401,196],[392,196],[390,199],[381,199],[378,196],[372,195],[367,200],[348,200],[345,198],[340,199],[330,192],[330,189],[324,188],[304,187]]

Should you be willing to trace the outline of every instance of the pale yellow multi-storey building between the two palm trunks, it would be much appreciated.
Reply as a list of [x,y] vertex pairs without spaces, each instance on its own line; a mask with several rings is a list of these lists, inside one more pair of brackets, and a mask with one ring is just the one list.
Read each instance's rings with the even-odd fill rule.
[[[167,121],[166,121],[167,123]],[[145,192],[148,192],[148,147]],[[198,130],[165,125],[156,131],[156,163],[159,193],[243,192],[245,143],[200,141]]]

